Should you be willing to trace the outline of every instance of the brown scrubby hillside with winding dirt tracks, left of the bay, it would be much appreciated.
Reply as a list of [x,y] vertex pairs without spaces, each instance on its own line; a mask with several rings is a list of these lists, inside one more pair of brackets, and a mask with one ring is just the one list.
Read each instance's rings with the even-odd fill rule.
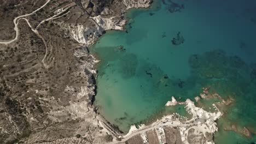
[[[4,1],[0,7],[19,5],[6,9],[12,22],[46,2]],[[18,19],[18,39],[0,44],[0,143],[109,141],[92,105],[97,60],[86,45],[107,29],[123,29],[126,10],[149,3],[55,0]],[[3,27],[9,35],[0,39],[13,39],[13,22]]]

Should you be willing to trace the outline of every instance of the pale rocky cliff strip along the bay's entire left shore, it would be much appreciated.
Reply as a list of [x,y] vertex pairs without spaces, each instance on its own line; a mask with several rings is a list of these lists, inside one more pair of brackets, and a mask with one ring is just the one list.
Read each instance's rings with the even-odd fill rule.
[[[91,80],[89,80],[89,85],[91,85],[90,93],[88,100],[90,101],[88,105],[91,107],[89,110],[95,112],[96,119],[98,121],[98,124],[103,128],[104,131],[106,131],[109,135],[112,135],[115,137],[115,139],[120,140],[120,136],[123,135],[123,132],[120,131],[117,127],[114,127],[114,125],[110,124],[103,116],[100,115],[100,113],[97,112],[97,107],[93,105],[96,95],[96,79],[97,77],[97,70],[95,69],[95,65],[100,62],[95,56],[92,56],[88,50],[89,45],[93,45],[96,43],[96,40],[101,37],[106,31],[108,30],[121,30],[124,31],[124,26],[126,25],[127,19],[125,18],[125,13],[127,10],[131,8],[149,8],[150,4],[152,4],[152,0],[139,0],[139,1],[129,1],[124,0],[124,5],[126,6],[126,9],[121,13],[121,15],[116,16],[104,16],[104,15],[98,15],[94,17],[90,17],[90,20],[95,24],[92,25],[92,27],[86,27],[83,25],[69,25],[67,26],[67,29],[64,26],[64,30],[68,35],[70,35],[74,40],[76,40],[79,44],[82,44],[83,50],[79,49],[78,51],[74,52],[74,55],[76,57],[81,57],[86,51],[86,55],[90,57],[91,61],[81,65],[82,69],[87,70],[88,72],[86,75],[89,75],[91,77]],[[108,13],[108,9],[104,9],[102,11],[103,14]],[[59,23],[59,25],[62,25]],[[63,26],[63,25],[62,25]],[[84,50],[86,49],[86,50]],[[89,69],[88,69],[89,68]]]

